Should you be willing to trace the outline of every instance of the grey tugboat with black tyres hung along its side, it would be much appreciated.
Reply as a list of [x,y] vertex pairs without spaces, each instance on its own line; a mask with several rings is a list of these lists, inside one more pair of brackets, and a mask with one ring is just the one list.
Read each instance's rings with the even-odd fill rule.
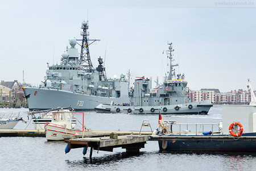
[[168,44],[167,51],[170,58],[170,72],[163,85],[150,91],[150,80],[144,77],[135,80],[134,89],[131,92],[130,103],[123,105],[110,104],[98,105],[96,112],[111,113],[135,113],[135,114],[207,114],[212,103],[210,101],[191,102],[187,90],[188,82],[184,80],[184,74],[175,75],[175,66],[172,64],[172,43]]

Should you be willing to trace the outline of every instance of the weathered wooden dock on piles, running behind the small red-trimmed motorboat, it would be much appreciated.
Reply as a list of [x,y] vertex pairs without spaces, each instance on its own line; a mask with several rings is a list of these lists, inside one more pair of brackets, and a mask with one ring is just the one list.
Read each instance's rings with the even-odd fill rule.
[[[144,148],[151,131],[90,131],[84,137],[66,137],[68,148],[88,148],[90,147],[90,159],[92,159],[93,149],[99,151],[113,152],[114,148],[122,147],[128,153],[138,153]],[[46,137],[44,130],[18,130],[1,129],[0,137]],[[65,137],[64,137],[65,139]]]

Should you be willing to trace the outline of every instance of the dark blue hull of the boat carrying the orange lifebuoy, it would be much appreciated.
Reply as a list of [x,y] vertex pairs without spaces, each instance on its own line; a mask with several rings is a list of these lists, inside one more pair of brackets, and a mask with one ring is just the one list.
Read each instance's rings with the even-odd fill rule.
[[229,135],[167,136],[158,141],[160,151],[256,151],[256,133]]

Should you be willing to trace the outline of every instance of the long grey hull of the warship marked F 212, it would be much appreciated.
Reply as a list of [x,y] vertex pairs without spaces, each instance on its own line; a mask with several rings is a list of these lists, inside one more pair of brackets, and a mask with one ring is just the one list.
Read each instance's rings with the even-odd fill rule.
[[75,110],[84,111],[94,110],[94,107],[101,103],[110,103],[113,101],[116,104],[122,104],[129,102],[128,95],[121,95],[119,98],[98,97],[96,95],[36,87],[24,87],[23,91],[30,110],[47,110],[57,107],[72,106]]

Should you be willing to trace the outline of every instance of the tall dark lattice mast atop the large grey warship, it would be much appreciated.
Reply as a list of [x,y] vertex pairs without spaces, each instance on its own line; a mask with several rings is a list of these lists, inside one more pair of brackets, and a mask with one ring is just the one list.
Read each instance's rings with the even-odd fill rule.
[[[90,53],[89,53],[89,45],[92,44],[94,41],[100,40],[89,40],[89,32],[88,32],[88,21],[82,22],[82,44],[81,44],[81,53],[80,53],[80,65],[81,69],[93,69],[92,61],[90,60]],[[92,43],[88,43],[88,41],[92,41]]]

